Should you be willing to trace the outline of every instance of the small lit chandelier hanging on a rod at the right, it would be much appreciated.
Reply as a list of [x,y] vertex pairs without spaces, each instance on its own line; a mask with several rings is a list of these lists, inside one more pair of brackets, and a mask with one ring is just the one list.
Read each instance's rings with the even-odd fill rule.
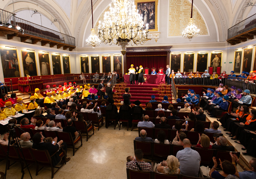
[[189,23],[186,29],[182,32],[182,37],[188,38],[189,41],[191,41],[193,37],[196,37],[200,34],[199,32],[200,29],[197,29],[197,27],[195,26],[195,21],[193,20],[192,13],[193,13],[193,0],[192,0],[191,17],[189,19]]

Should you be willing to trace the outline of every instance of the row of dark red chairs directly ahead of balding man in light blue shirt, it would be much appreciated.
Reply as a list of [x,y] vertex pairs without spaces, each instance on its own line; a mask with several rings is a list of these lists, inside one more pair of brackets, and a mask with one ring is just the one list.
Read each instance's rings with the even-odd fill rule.
[[[143,152],[143,158],[151,159],[152,161],[161,162],[166,160],[169,155],[176,156],[177,152],[183,150],[181,145],[173,144],[158,144],[155,142],[142,142],[142,141],[133,141],[134,150],[141,149]],[[204,166],[213,166],[212,157],[215,156],[216,159],[229,160],[232,161],[229,151],[216,150],[216,149],[203,149],[198,147],[191,147],[193,150],[196,150],[201,156],[200,165]],[[237,155],[239,158],[240,152],[232,152]],[[217,160],[218,166],[220,164]]]

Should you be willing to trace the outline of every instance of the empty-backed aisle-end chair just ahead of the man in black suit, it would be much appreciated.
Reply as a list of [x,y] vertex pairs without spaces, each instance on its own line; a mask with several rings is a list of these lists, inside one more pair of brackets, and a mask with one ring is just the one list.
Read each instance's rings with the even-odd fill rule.
[[[80,133],[78,133],[78,137],[76,138],[76,140],[73,140],[73,137],[71,135],[70,132],[57,132],[58,134],[58,139],[59,140],[63,140],[63,142],[66,142],[67,143],[67,147],[71,147],[73,148],[73,156],[75,155],[75,152],[83,146],[83,138],[82,138],[82,135]],[[81,141],[81,144],[79,147],[75,147],[75,145],[77,143],[79,143],[79,141]]]

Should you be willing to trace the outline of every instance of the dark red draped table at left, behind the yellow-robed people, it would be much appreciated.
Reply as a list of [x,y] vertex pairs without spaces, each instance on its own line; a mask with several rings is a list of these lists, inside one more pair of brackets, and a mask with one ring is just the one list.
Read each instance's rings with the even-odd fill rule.
[[18,81],[20,93],[35,93],[35,89],[43,89],[43,80],[20,80]]

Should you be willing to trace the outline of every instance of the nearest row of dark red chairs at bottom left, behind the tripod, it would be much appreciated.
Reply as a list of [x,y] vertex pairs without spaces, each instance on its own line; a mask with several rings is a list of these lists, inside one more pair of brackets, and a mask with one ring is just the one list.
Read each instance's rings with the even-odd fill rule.
[[[60,149],[61,153],[59,154],[60,158],[62,159],[66,152]],[[51,167],[52,169],[52,178],[54,177],[54,174],[64,165],[66,162],[58,165],[53,166],[52,165],[52,156],[55,155],[58,151],[56,151],[52,156],[49,154],[48,150],[37,150],[33,148],[22,148],[22,153],[19,148],[16,148],[15,145],[10,145],[10,148],[8,150],[8,145],[0,145],[0,159],[5,160],[7,159],[7,151],[9,152],[8,161],[7,161],[7,169],[9,170],[10,166],[13,165],[15,162],[20,162],[21,164],[21,171],[25,168],[25,161],[28,165],[36,165],[36,176],[38,175],[38,172],[43,167]],[[19,157],[20,156],[20,157]],[[24,156],[24,157],[23,157]],[[21,158],[21,160],[20,160]],[[10,165],[10,162],[14,162]],[[39,165],[42,166],[42,168],[39,169]],[[55,168],[57,170],[55,171]]]

